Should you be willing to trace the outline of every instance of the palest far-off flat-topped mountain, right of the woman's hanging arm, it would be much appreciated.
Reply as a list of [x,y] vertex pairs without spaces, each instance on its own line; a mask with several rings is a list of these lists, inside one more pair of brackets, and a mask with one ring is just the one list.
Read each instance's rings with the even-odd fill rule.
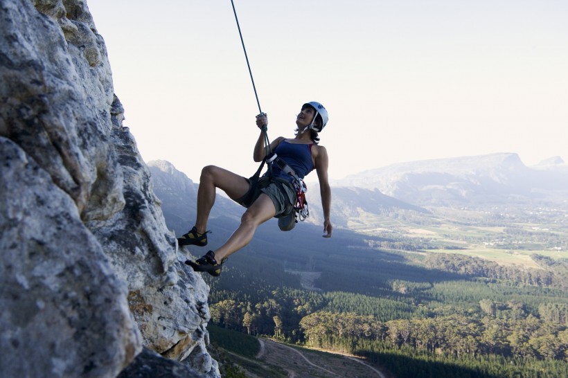
[[568,190],[568,165],[558,156],[533,167],[511,153],[462,156],[388,165],[333,181],[332,186],[380,190],[424,207],[556,201]]

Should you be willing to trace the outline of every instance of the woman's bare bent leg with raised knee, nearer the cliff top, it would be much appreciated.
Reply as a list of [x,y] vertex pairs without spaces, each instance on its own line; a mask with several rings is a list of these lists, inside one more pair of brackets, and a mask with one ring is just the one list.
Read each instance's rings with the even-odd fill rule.
[[215,204],[215,188],[223,190],[231,199],[239,199],[247,193],[249,186],[247,179],[238,174],[215,165],[204,167],[197,190],[197,232],[204,233],[207,230],[207,220]]

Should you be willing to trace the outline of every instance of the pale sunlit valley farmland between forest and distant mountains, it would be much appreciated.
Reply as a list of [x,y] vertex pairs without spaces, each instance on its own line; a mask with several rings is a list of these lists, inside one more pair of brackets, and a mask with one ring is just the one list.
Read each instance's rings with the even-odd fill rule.
[[[497,217],[489,211],[443,209],[431,215],[408,215],[393,219],[366,214],[357,231],[385,240],[384,249],[410,252],[458,253],[506,266],[538,269],[532,255],[568,258],[568,224],[565,215],[533,219],[526,212],[515,217]],[[530,222],[529,222],[530,221]],[[498,224],[496,224],[498,223]]]

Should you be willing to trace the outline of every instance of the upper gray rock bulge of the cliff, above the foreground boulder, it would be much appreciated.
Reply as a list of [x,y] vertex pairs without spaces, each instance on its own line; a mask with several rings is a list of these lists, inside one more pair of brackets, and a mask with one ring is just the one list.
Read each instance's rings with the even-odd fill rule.
[[[49,172],[76,201],[82,219],[107,217],[124,206],[124,198],[121,170],[108,141],[109,64],[101,58],[93,66],[86,58],[95,46],[105,53],[103,39],[85,27],[72,28],[80,22],[65,18],[61,1],[36,3],[51,10],[51,17],[30,1],[1,1],[0,135]],[[60,24],[73,33],[64,35]],[[68,42],[66,35],[76,37]],[[102,198],[105,204],[98,201]]]

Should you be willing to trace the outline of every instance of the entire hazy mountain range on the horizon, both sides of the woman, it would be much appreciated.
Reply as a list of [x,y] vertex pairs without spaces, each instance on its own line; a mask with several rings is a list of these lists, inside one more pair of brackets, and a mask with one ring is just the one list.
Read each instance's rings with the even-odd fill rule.
[[[168,226],[177,234],[185,233],[195,222],[197,183],[167,161],[151,161],[148,166],[154,190],[163,200]],[[436,207],[565,206],[568,165],[559,157],[528,167],[517,154],[464,156],[388,165],[332,181],[331,186],[333,224],[356,229],[366,223],[377,224],[378,219],[393,213],[428,216]],[[317,184],[309,185],[307,198],[310,217],[306,223],[320,228],[323,219]],[[228,236],[242,211],[241,206],[219,195],[211,219],[222,221],[221,232]]]

